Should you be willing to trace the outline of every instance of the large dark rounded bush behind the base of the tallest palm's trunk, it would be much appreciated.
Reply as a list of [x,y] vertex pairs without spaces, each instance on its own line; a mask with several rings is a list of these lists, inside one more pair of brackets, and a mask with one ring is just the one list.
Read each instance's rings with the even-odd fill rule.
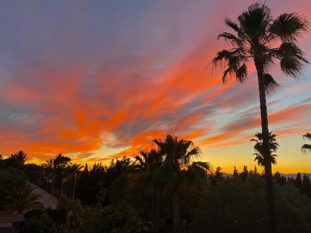
[[[275,184],[280,232],[311,228],[311,202],[292,184]],[[265,180],[251,175],[222,179],[218,187],[196,196],[193,206],[196,232],[268,232]]]

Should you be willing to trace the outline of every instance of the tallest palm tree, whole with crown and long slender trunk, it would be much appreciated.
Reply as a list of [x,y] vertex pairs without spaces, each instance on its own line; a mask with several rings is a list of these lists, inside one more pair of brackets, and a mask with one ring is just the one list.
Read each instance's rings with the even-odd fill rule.
[[[266,94],[272,94],[280,85],[268,71],[272,64],[279,60],[281,71],[285,75],[300,78],[304,64],[309,61],[296,43],[297,39],[309,30],[308,21],[296,13],[284,13],[273,19],[267,6],[255,3],[238,17],[237,22],[225,18],[225,24],[234,30],[237,36],[223,32],[218,35],[218,39],[230,41],[233,48],[217,52],[211,64],[217,67],[224,62],[227,66],[222,77],[223,83],[232,77],[244,83],[248,78],[247,64],[251,59],[254,60],[259,86],[270,231],[277,232]],[[281,41],[281,45],[274,48],[274,43],[278,41]]]

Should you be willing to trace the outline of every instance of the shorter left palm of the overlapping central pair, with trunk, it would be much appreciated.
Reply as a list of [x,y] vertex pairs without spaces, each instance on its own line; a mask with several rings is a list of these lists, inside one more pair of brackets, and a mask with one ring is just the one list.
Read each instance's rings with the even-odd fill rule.
[[147,191],[152,193],[151,201],[151,233],[159,231],[159,192],[160,186],[154,183],[157,168],[162,164],[162,156],[156,149],[141,149],[133,158],[133,169],[137,174],[137,181],[147,186]]

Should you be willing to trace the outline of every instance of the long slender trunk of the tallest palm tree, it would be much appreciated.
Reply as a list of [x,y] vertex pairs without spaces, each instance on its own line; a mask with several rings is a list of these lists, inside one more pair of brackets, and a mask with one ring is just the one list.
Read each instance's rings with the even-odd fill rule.
[[272,177],[272,164],[271,164],[271,153],[270,153],[270,142],[269,142],[269,129],[268,129],[268,113],[267,113],[267,102],[265,92],[265,81],[263,73],[263,65],[259,59],[255,59],[255,66],[258,76],[259,85],[259,99],[260,99],[260,114],[261,114],[261,127],[262,127],[262,142],[263,142],[263,158],[266,171],[266,189],[267,189],[267,202],[268,212],[270,220],[270,232],[278,232],[277,220],[276,220],[276,208],[274,200],[273,190],[273,177]]

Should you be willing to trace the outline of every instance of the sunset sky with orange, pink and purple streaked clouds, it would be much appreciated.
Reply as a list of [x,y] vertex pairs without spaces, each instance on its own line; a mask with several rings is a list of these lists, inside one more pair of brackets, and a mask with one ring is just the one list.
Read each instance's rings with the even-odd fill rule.
[[[223,85],[222,69],[204,68],[230,31],[223,18],[254,1],[1,1],[0,153],[25,150],[29,162],[55,153],[109,164],[179,134],[202,148],[202,161],[253,168],[261,130],[254,66],[245,85]],[[267,0],[272,15],[308,0]],[[311,59],[311,34],[299,46]],[[282,173],[310,172],[301,135],[311,133],[311,66],[305,80],[271,74],[282,85],[267,99],[269,130],[279,135]]]

